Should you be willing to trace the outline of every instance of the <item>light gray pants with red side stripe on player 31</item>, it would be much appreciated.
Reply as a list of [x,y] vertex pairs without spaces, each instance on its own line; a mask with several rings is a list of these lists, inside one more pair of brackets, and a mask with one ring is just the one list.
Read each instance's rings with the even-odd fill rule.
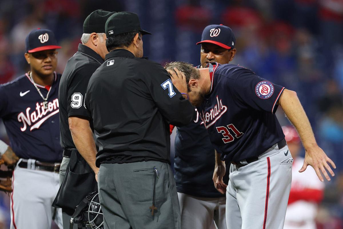
[[228,229],[283,229],[292,181],[293,158],[277,144],[259,160],[230,166],[226,191]]

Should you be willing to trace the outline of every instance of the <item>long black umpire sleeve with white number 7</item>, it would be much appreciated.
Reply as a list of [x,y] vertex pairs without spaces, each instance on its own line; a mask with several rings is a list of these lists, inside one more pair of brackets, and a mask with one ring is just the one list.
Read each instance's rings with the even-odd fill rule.
[[155,68],[154,74],[147,76],[146,84],[158,110],[173,125],[180,126],[190,123],[194,107],[174,87],[169,73],[161,65],[156,63],[153,67]]

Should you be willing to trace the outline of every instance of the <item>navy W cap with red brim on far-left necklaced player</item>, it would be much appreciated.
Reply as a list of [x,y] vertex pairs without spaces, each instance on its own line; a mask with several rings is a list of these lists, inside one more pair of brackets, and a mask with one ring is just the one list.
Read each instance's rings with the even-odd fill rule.
[[57,45],[54,33],[49,29],[34,29],[25,39],[26,51],[39,52],[49,49],[62,48]]

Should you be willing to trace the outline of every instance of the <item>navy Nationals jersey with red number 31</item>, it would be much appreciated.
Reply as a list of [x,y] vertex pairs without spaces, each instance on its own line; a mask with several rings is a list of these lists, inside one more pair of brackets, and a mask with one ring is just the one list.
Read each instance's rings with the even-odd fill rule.
[[274,115],[284,87],[234,64],[210,64],[210,93],[197,107],[222,160],[257,157],[285,136]]

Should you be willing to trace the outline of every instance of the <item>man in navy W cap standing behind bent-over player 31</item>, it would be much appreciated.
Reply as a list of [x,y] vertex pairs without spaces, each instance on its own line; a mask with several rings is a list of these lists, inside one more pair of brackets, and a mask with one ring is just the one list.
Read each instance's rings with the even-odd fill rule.
[[[220,31],[220,33],[216,32]],[[215,33],[214,33],[215,32]],[[226,64],[236,49],[232,30],[224,25],[204,28],[200,49],[200,65],[209,62]],[[175,137],[175,181],[181,210],[181,228],[209,229],[214,221],[218,229],[226,229],[225,194],[213,186],[214,148],[199,112],[193,122],[177,127]],[[223,177],[228,182],[228,174]]]

